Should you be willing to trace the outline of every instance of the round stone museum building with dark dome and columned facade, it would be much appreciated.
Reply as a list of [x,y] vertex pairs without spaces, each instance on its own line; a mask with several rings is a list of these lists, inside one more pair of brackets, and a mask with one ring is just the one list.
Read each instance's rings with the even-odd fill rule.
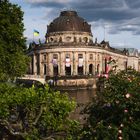
[[62,11],[47,26],[44,44],[30,45],[29,74],[46,82],[55,78],[58,86],[92,87],[95,76],[112,68],[139,68],[138,50],[116,49],[109,42],[93,41],[91,25],[76,11]]

